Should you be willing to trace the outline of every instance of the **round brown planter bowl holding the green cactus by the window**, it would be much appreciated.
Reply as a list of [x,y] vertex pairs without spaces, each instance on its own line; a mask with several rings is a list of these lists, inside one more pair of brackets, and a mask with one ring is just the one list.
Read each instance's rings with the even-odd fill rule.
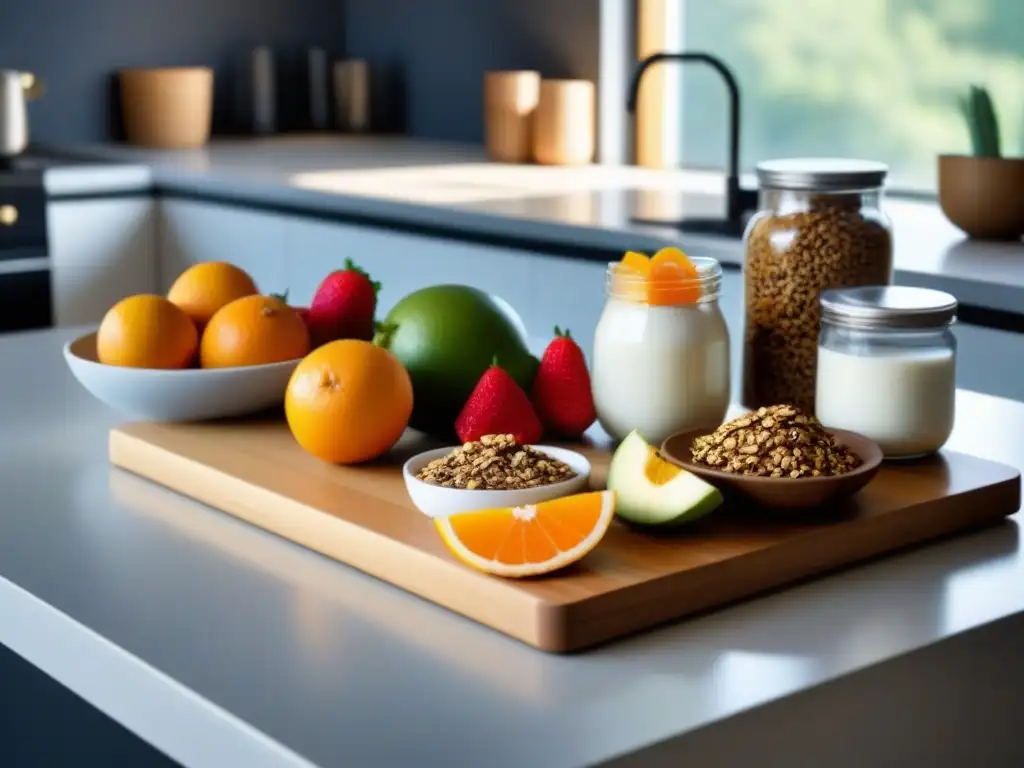
[[972,238],[1024,234],[1024,158],[939,156],[939,206]]

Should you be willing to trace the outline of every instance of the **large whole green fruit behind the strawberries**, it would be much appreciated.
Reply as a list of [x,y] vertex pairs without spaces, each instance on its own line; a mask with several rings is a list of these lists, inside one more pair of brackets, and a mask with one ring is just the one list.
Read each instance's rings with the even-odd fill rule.
[[410,426],[438,437],[454,434],[459,412],[495,360],[526,392],[540,365],[526,348],[515,310],[469,286],[409,294],[379,325],[374,342],[394,354],[413,380]]

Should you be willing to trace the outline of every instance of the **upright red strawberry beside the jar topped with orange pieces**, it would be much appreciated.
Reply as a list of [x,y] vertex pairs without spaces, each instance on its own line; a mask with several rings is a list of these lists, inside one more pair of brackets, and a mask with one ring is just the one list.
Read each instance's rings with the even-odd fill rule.
[[567,329],[555,327],[530,395],[545,428],[562,437],[579,437],[597,418],[587,359]]

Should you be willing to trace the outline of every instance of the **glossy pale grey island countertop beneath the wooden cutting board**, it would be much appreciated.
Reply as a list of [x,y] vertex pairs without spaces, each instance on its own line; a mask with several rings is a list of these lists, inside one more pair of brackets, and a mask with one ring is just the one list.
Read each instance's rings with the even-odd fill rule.
[[[737,764],[722,750],[744,744],[767,765],[964,765],[954,753],[863,760],[881,749],[871,729],[904,722],[904,694],[927,697],[921,686],[932,684],[970,711],[937,728],[945,699],[919,700],[892,749],[958,738],[988,751],[972,755],[1024,751],[1012,727],[1019,710],[977,703],[1000,686],[1019,695],[1020,514],[587,653],[547,655],[112,468],[106,435],[119,419],[60,358],[82,332],[0,338],[0,358],[16,361],[16,375],[0,377],[0,643],[188,768],[578,768],[622,756],[719,766]],[[1021,468],[1021,434],[1024,403],[958,393],[950,450]],[[956,641],[982,625],[986,644],[956,673]],[[868,669],[890,659],[924,668]],[[990,662],[1005,674],[978,672]],[[881,702],[863,715],[874,725],[851,731],[845,708],[869,693],[849,692],[857,680]],[[785,713],[804,692],[818,702],[813,722],[772,732],[784,759],[752,725],[714,753],[696,746],[702,728],[744,711]],[[854,742],[845,757],[830,732]],[[830,758],[815,761],[816,750]],[[649,762],[654,754],[663,762]]]

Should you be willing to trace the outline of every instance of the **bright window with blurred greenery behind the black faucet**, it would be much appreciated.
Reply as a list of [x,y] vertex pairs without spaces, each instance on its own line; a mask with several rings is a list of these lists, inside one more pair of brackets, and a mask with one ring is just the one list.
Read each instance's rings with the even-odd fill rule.
[[[936,155],[969,150],[956,99],[971,83],[992,93],[1004,154],[1024,155],[1024,0],[636,5],[640,14],[657,6],[680,25],[666,31],[674,47],[713,53],[735,72],[745,170],[772,157],[863,157],[888,163],[894,187],[934,189]],[[675,118],[677,136],[666,157],[687,167],[723,167],[721,79],[693,66],[677,78],[676,92],[664,93],[677,111],[662,118]]]

